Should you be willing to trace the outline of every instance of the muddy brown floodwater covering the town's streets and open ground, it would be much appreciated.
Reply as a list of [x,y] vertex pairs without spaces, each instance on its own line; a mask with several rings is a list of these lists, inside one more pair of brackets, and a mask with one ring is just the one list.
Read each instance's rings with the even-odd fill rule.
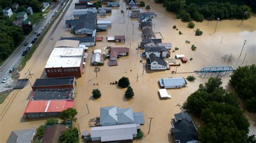
[[[122,0],[121,0],[122,1]],[[75,0],[70,5],[69,10],[66,12],[64,19],[58,25],[55,33],[53,34],[53,40],[47,40],[50,32],[45,35],[42,43],[33,54],[32,58],[27,62],[25,68],[20,72],[21,77],[28,75],[28,69],[32,74],[29,78],[31,84],[34,83],[36,78],[45,77],[44,67],[46,61],[51,54],[53,46],[56,41],[62,37],[72,37],[70,31],[65,30],[65,20],[70,19],[72,16],[72,10],[74,9]],[[123,2],[123,1],[122,1]],[[192,61],[187,63],[181,63],[180,67],[177,67],[177,73],[191,72],[194,70],[200,70],[203,67],[215,67],[215,66],[232,66],[234,69],[242,65],[245,54],[246,59],[244,65],[251,65],[256,63],[256,17],[252,16],[248,20],[244,20],[241,26],[241,20],[221,20],[217,25],[216,33],[214,32],[216,21],[203,23],[197,23],[195,28],[187,28],[187,23],[183,23],[180,19],[176,18],[176,15],[171,12],[167,12],[161,4],[156,4],[152,1],[145,1],[146,5],[151,6],[151,10],[156,13],[157,17],[152,19],[153,31],[160,32],[164,39],[163,42],[171,42],[172,50],[174,47],[179,47],[179,50],[172,53],[171,59],[175,54],[184,54],[187,59],[193,58]],[[124,10],[123,13],[120,12]],[[143,11],[146,11],[143,9]],[[84,130],[91,130],[89,127],[89,120],[95,116],[99,116],[99,109],[104,106],[118,106],[120,108],[132,108],[133,112],[143,111],[145,124],[141,126],[142,131],[146,135],[141,142],[173,142],[170,136],[171,123],[170,120],[174,118],[175,113],[181,111],[180,105],[186,101],[186,98],[198,89],[200,83],[207,82],[207,78],[199,78],[197,74],[171,74],[176,70],[176,67],[171,67],[166,71],[150,71],[144,69],[142,59],[142,52],[137,51],[138,43],[142,40],[141,31],[138,30],[138,18],[130,18],[128,10],[125,8],[125,3],[120,4],[120,8],[114,8],[111,15],[100,16],[99,20],[111,20],[112,27],[106,32],[97,32],[97,37],[104,38],[103,42],[97,42],[95,47],[90,47],[87,53],[89,58],[85,65],[85,73],[82,77],[77,78],[76,97],[74,108],[77,109],[77,123],[79,124],[80,132]],[[208,23],[208,24],[207,24]],[[56,24],[56,23],[55,23]],[[51,29],[55,26],[51,27]],[[134,24],[134,26],[133,26]],[[179,29],[176,31],[172,28],[176,25]],[[194,30],[200,28],[203,31],[203,35],[195,36]],[[51,31],[51,30],[50,30]],[[179,31],[183,34],[179,35]],[[125,43],[107,42],[106,37],[111,35],[125,35]],[[239,58],[241,48],[244,44],[244,40],[247,40],[247,44],[242,51]],[[185,41],[189,40],[190,44],[186,44]],[[196,51],[191,50],[191,45],[196,45]],[[130,46],[131,45],[131,46]],[[96,73],[95,67],[90,66],[91,56],[93,49],[102,49],[107,53],[106,46],[112,47],[128,47],[130,48],[129,56],[119,58],[118,66],[107,66],[107,60],[104,66],[100,66],[100,71]],[[225,54],[232,53],[235,59],[231,63],[224,62],[221,57]],[[177,60],[179,63],[180,60]],[[138,82],[137,82],[138,74]],[[171,94],[171,99],[162,100],[158,95],[158,80],[163,77],[187,77],[188,75],[194,75],[196,80],[194,82],[188,82],[186,88],[181,89],[168,89]],[[134,97],[127,100],[124,97],[126,89],[120,89],[116,85],[110,85],[110,82],[118,81],[122,76],[129,77],[131,87],[134,90]],[[228,80],[230,78],[224,77],[223,87],[228,89]],[[99,85],[93,85],[98,83]],[[102,97],[94,100],[91,96],[93,89],[98,88],[102,93]],[[22,115],[28,104],[28,97],[31,96],[32,89],[30,84],[22,90],[12,91],[6,98],[5,102],[0,104],[1,121],[0,121],[0,142],[5,142],[12,130],[22,130],[28,128],[37,128],[39,125],[45,123],[45,119],[32,119],[23,120]],[[13,102],[11,102],[13,101]],[[10,104],[11,103],[11,104]],[[86,104],[88,105],[90,113],[87,112]],[[9,108],[5,108],[7,107]],[[8,106],[10,105],[10,106]],[[7,110],[8,109],[8,110]],[[4,111],[4,112],[3,112]],[[5,113],[6,111],[6,113]],[[245,112],[251,123],[250,134],[256,134],[256,116],[255,113]],[[150,117],[152,119],[150,133],[149,122]],[[195,120],[196,125],[201,125],[200,120]],[[134,142],[140,142],[134,140]]]

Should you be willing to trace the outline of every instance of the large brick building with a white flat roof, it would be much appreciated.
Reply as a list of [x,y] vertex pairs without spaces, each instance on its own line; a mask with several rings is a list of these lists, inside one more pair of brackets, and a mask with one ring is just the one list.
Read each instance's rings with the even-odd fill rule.
[[53,48],[44,67],[48,77],[81,77],[83,73],[84,48]]

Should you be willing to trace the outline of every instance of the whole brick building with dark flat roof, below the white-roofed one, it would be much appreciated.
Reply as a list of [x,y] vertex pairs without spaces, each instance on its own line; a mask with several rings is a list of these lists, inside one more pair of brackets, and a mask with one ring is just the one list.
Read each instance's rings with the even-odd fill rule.
[[37,78],[32,85],[33,90],[40,89],[75,89],[76,78],[56,77],[56,78]]

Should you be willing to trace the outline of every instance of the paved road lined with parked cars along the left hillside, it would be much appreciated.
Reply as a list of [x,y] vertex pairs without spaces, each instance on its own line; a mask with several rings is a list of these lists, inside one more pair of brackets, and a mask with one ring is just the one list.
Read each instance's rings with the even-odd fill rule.
[[[36,34],[34,34],[35,31],[38,31],[38,33],[42,33],[44,30],[42,28],[44,26],[48,26],[48,22],[51,22],[53,17],[52,15],[59,11],[62,8],[62,5],[60,5],[61,2],[59,2],[56,5],[52,5],[50,8],[50,11],[46,14],[46,19],[43,19],[36,27],[33,28],[33,31],[26,37],[26,39],[22,42],[22,44],[17,48],[17,50],[10,56],[10,58],[4,63],[4,65],[0,68],[0,80],[4,77],[8,78],[8,81],[6,83],[0,83],[0,92],[4,90],[8,90],[10,85],[13,85],[14,82],[11,81],[11,74],[9,73],[9,70],[11,68],[17,68],[19,63],[22,61],[24,56],[22,56],[22,52],[26,49],[28,46],[23,46],[25,42],[30,42],[37,37]],[[0,82],[1,82],[0,81]]]

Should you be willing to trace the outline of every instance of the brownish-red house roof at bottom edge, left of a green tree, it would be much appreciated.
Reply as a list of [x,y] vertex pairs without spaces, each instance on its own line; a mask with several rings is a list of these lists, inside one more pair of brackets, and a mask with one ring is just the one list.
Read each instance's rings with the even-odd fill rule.
[[46,128],[43,143],[58,142],[58,139],[62,132],[69,129],[68,125],[56,124]]

